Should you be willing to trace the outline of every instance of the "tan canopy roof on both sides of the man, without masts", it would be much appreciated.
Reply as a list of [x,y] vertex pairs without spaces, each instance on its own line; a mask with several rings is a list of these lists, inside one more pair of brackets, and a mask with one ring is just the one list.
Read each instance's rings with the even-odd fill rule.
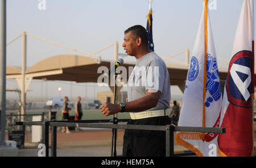
[[[114,60],[113,60],[114,61]],[[100,66],[110,68],[112,60],[99,60],[76,54],[62,54],[48,57],[39,61],[26,70],[26,78],[60,80],[75,82],[97,82],[102,73],[97,73]],[[129,66],[135,66],[136,62],[124,62],[127,70],[127,79],[129,78]],[[187,78],[188,66],[171,64],[166,62],[170,74],[171,85],[177,85],[180,88],[185,84]],[[226,79],[228,69],[220,69],[220,79]],[[21,70],[14,66],[7,66],[6,78],[21,78]],[[181,89],[182,90],[182,89]]]

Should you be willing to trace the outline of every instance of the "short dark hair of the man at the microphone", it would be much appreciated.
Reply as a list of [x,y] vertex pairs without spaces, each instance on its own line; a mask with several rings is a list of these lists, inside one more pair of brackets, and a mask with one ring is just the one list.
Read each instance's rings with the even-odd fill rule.
[[128,33],[128,32],[132,33],[132,36],[133,36],[134,40],[136,40],[138,37],[141,37],[142,43],[148,45],[147,31],[146,31],[146,28],[144,28],[143,26],[135,25],[135,26],[129,27],[125,31],[125,34]]

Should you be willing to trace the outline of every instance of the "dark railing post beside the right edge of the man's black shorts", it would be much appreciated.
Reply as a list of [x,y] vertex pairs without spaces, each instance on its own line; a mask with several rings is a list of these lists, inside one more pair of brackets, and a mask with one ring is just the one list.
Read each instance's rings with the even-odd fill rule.
[[174,126],[166,125],[166,156],[174,156]]

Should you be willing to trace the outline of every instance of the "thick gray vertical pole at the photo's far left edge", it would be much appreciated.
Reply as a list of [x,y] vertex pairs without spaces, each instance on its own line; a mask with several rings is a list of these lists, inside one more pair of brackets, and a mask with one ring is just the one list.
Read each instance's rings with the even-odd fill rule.
[[5,142],[5,102],[6,102],[6,0],[1,1],[0,40],[0,146]]

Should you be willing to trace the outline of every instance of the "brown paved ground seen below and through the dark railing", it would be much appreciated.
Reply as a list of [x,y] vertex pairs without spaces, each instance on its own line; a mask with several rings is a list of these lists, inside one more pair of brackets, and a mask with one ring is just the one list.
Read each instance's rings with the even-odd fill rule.
[[[117,132],[117,156],[122,155],[123,130]],[[51,145],[51,135],[49,135]],[[19,157],[37,157],[39,143],[25,143],[24,149],[19,149]],[[98,129],[71,131],[61,133],[57,131],[57,156],[58,157],[102,157],[111,156],[112,130]],[[187,151],[183,146],[176,144],[175,153]],[[51,149],[49,149],[51,156]]]

